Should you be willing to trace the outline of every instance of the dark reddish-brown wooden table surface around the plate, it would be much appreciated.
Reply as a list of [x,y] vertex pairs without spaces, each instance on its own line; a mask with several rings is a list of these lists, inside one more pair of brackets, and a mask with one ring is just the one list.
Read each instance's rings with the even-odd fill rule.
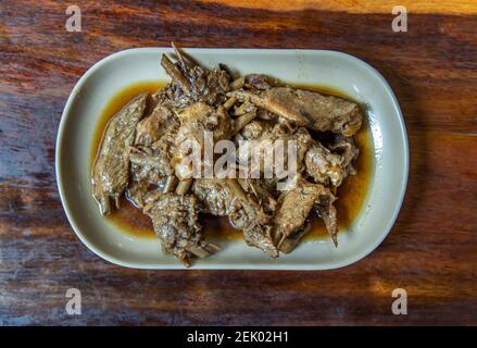
[[[75,1],[0,3],[0,324],[477,324],[477,3]],[[438,2],[438,1],[436,1]],[[302,48],[354,54],[388,79],[411,147],[404,206],[385,243],[328,272],[138,271],[70,227],[54,142],[66,99],[103,57],[134,47]],[[65,312],[81,290],[81,315]],[[407,291],[393,315],[391,291]]]

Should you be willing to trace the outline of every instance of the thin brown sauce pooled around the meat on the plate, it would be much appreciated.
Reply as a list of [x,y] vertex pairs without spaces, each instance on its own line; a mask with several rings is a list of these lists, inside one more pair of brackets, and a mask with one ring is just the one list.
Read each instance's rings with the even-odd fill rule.
[[[126,87],[113,97],[104,108],[98,121],[98,126],[91,145],[91,167],[108,121],[136,96],[142,92],[154,92],[164,85],[164,82],[141,82]],[[343,92],[327,87],[310,85],[296,85],[296,87],[351,99]],[[363,111],[365,111],[364,108]],[[338,188],[337,196],[339,199],[335,203],[340,229],[348,229],[353,224],[353,221],[359,215],[360,211],[364,208],[368,186],[373,178],[374,146],[369,124],[366,117],[363,126],[354,136],[354,140],[360,149],[360,156],[354,162],[354,167],[356,169],[357,174],[350,175],[344,179],[344,183]],[[154,232],[149,216],[142,214],[140,209],[134,207],[125,198],[121,199],[121,209],[113,210],[106,219],[127,234],[141,238],[154,238]],[[233,228],[229,225],[227,217],[206,215],[201,217],[201,224],[210,239],[230,240],[241,238],[241,232]],[[328,238],[328,234],[323,221],[313,214],[312,228],[304,237],[304,240],[316,240],[322,238]]]

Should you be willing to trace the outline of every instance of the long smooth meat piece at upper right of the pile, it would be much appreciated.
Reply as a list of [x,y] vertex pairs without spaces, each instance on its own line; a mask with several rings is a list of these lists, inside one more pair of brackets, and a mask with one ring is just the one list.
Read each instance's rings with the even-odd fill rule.
[[260,108],[293,121],[298,126],[318,132],[331,130],[351,136],[360,129],[363,121],[363,114],[356,103],[315,91],[276,87],[259,94],[235,90],[227,96],[251,100]]

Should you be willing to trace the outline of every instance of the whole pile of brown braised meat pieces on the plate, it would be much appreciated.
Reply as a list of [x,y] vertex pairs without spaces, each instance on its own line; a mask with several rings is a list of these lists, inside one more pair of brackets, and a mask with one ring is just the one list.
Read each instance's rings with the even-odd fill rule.
[[[91,173],[101,214],[125,195],[186,265],[218,249],[201,215],[226,216],[273,258],[291,252],[313,219],[338,246],[335,195],[356,173],[360,107],[262,74],[233,78],[224,64],[208,70],[174,51],[161,59],[171,82],[131,100],[104,130]],[[226,175],[217,173],[224,158]]]

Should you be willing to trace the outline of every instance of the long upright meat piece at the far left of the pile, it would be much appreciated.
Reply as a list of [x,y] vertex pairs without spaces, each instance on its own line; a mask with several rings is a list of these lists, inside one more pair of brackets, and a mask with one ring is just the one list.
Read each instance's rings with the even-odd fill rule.
[[111,211],[110,198],[118,208],[120,197],[129,178],[129,148],[136,134],[136,125],[142,119],[148,95],[140,95],[116,113],[106,125],[92,169],[92,196],[101,214]]

